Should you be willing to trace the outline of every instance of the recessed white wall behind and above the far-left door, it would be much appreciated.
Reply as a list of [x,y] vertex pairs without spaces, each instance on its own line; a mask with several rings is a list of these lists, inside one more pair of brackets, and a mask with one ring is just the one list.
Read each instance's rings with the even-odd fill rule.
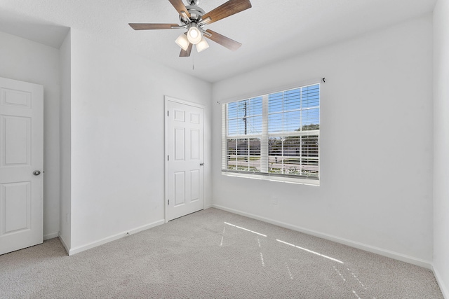
[[59,232],[59,50],[0,32],[0,76],[43,85],[43,235]]

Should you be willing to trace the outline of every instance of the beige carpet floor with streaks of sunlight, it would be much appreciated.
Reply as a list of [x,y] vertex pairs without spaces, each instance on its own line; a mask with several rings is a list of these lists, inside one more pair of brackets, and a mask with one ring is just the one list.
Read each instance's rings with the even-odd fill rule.
[[443,298],[430,270],[218,209],[67,256],[0,256],[0,298]]

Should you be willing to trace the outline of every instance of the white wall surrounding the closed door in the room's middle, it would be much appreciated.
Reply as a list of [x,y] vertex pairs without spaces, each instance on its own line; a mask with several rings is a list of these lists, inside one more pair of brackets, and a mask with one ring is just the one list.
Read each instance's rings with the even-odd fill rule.
[[164,95],[206,106],[205,199],[210,205],[210,83],[88,39],[76,29],[71,57],[70,253],[163,223]]

